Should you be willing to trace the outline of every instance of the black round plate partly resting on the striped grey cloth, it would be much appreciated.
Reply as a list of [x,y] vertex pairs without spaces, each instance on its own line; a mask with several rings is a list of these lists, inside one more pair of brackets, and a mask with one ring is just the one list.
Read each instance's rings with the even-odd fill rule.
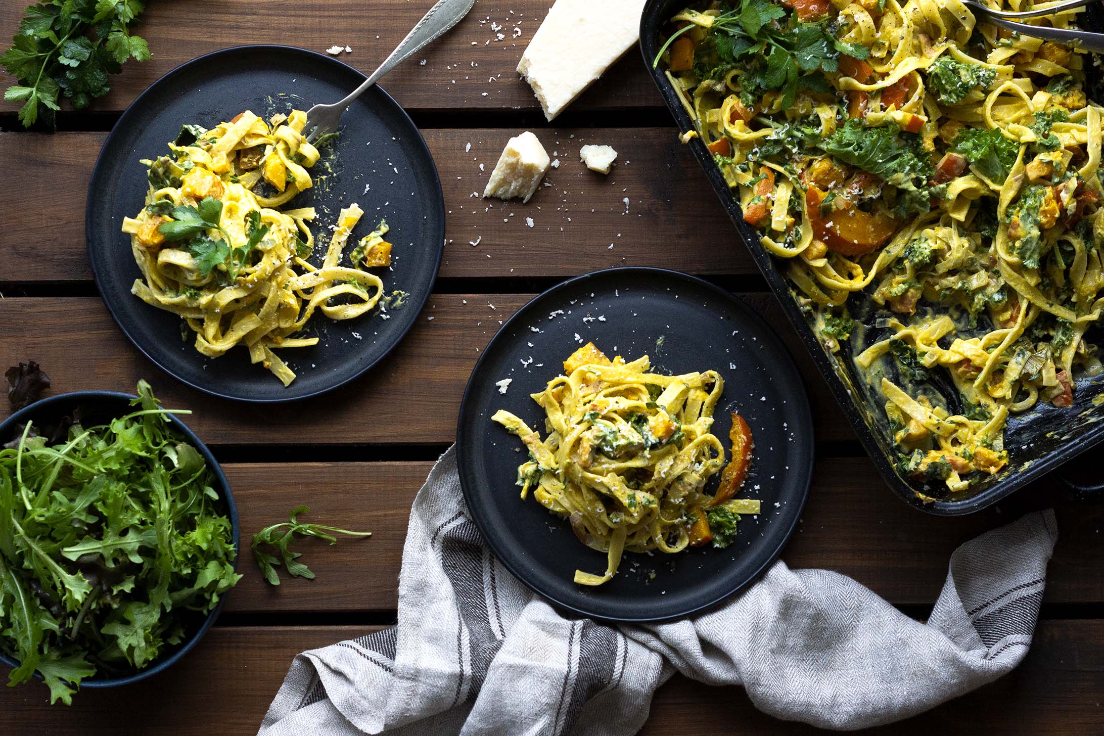
[[[713,433],[729,448],[731,412],[751,425],[755,455],[739,495],[763,501],[725,550],[677,555],[626,553],[599,587],[575,585],[575,568],[601,573],[606,556],[514,484],[521,444],[490,420],[508,409],[543,436],[529,394],[563,370],[581,342],[608,355],[647,354],[654,370],[715,370],[724,378]],[[511,378],[506,395],[496,382]],[[658,268],[615,268],[565,281],[537,297],[490,341],[460,405],[460,484],[469,513],[498,558],[537,593],[586,616],[654,621],[709,607],[754,579],[794,531],[813,473],[813,418],[797,369],[773,328],[742,301],[700,279]],[[714,483],[718,477],[714,477]]]

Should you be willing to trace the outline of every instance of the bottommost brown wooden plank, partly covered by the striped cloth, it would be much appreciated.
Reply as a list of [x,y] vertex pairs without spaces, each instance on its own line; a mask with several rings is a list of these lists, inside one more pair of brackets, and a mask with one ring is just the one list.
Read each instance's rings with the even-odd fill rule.
[[[45,705],[33,683],[0,689],[0,712],[20,736],[253,736],[293,657],[370,631],[364,627],[215,627],[173,669],[146,682],[85,690],[71,707]],[[1040,622],[1023,663],[1001,680],[907,721],[872,729],[887,736],[1100,733],[1104,621]],[[166,697],[167,693],[171,696]],[[123,726],[121,723],[126,723]],[[213,730],[212,730],[213,729]],[[824,733],[756,711],[740,687],[715,689],[676,675],[660,687],[643,736]]]

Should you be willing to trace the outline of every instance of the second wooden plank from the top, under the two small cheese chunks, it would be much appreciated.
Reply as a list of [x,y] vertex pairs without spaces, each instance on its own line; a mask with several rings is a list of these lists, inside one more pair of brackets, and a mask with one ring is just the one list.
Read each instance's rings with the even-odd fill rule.
[[[482,194],[502,147],[516,132],[423,131],[437,163],[448,213],[442,276],[577,276],[613,266],[658,266],[690,274],[758,273],[701,169],[678,142],[675,128],[538,131],[549,153],[561,162],[545,178],[553,185],[541,188],[527,204],[471,196],[473,192]],[[0,160],[10,161],[12,171],[36,172],[9,194],[9,205],[21,216],[6,232],[0,281],[92,279],[84,203],[105,137],[0,134]],[[608,177],[580,162],[583,143],[608,143],[617,149],[619,163]],[[470,151],[466,150],[469,145]],[[364,196],[372,196],[355,189],[350,194],[365,207]],[[59,206],[62,202],[64,206]],[[527,217],[533,220],[532,227]],[[316,225],[322,231],[326,223]],[[728,246],[718,247],[719,241]]]

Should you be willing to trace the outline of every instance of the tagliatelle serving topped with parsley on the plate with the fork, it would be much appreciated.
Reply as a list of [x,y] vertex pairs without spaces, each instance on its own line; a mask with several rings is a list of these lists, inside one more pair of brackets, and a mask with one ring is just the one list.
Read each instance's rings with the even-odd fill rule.
[[168,156],[144,161],[145,206],[123,223],[141,270],[132,292],[179,314],[201,354],[244,345],[285,386],[295,372],[276,351],[317,344],[304,331],[318,312],[349,320],[402,296],[385,297],[369,270],[391,265],[386,222],[344,254],[364,214],[357,204],[331,225],[320,265],[308,260],[315,209],[285,207],[314,185],[320,158],[305,124],[301,110],[268,121],[246,110],[210,130],[184,126]]

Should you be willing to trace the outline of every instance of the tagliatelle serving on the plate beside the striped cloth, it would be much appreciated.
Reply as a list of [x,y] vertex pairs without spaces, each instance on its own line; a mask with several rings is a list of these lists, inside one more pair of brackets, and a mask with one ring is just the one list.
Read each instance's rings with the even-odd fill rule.
[[[611,360],[587,343],[564,361],[563,374],[532,394],[545,414],[544,439],[517,415],[495,413],[491,419],[529,451],[518,467],[521,498],[532,492],[583,544],[607,553],[605,573],[575,570],[575,583],[608,582],[626,551],[723,548],[740,514],[760,513],[758,500],[733,498],[752,462],[747,423],[732,415],[728,465],[710,431],[723,390],[715,371],[662,375],[647,355]],[[720,486],[708,493],[719,472]]]

